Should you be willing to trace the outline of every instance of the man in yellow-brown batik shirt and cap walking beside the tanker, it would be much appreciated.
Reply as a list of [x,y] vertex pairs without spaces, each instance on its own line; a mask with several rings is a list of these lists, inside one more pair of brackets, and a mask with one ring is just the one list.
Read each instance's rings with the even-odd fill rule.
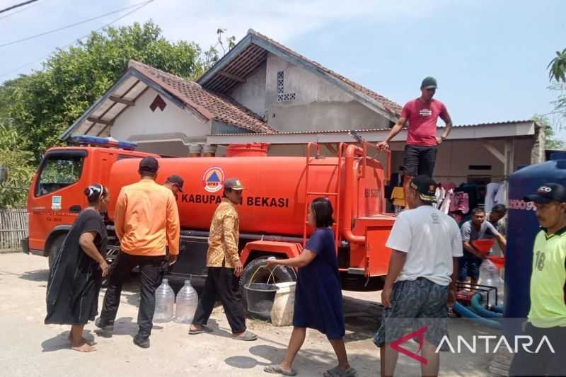
[[258,339],[255,334],[246,330],[246,315],[240,291],[243,265],[238,253],[240,225],[236,204],[242,202],[242,190],[244,187],[237,178],[224,182],[223,199],[216,207],[210,224],[207,281],[197,306],[195,320],[190,325],[190,335],[212,332],[206,325],[216,298],[219,298],[232,330],[232,339]]

